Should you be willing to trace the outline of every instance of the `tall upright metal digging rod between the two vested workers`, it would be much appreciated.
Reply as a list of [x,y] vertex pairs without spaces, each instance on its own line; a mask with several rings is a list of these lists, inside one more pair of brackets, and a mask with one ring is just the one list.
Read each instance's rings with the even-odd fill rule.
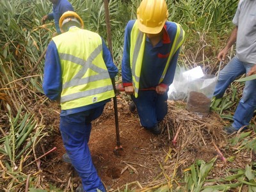
[[[105,10],[105,20],[106,20],[106,26],[107,26],[107,36],[108,36],[108,47],[109,51],[111,53],[111,56],[113,58],[113,51],[112,51],[112,42],[111,42],[111,29],[110,29],[110,19],[109,19],[109,9],[108,9],[108,0],[104,0],[104,10]],[[115,79],[111,79],[113,88],[116,93],[115,88]],[[118,125],[118,111],[117,111],[117,102],[116,102],[116,95],[113,98],[114,102],[114,109],[115,109],[115,126],[116,126],[116,147],[113,150],[114,154],[118,156],[118,150],[123,149],[122,145],[120,143],[120,134],[119,134],[119,125]]]

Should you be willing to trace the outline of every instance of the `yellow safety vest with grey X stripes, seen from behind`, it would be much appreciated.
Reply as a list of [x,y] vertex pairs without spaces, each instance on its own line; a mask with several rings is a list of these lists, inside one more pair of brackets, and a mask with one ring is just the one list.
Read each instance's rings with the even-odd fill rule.
[[92,31],[70,28],[52,38],[61,63],[61,109],[74,109],[115,97],[102,58],[102,39]]

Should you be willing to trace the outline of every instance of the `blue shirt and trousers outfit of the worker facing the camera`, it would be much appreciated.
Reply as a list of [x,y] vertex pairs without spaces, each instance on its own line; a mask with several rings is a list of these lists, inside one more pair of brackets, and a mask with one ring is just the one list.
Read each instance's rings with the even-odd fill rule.
[[[130,47],[131,47],[131,30],[135,20],[130,20],[125,28],[124,39],[124,55],[122,60],[122,81],[124,86],[132,85],[132,73],[130,66]],[[177,26],[173,22],[166,22],[164,25],[163,40],[155,47],[152,46],[150,40],[146,37],[145,51],[143,55],[143,63],[140,75],[140,89],[152,88],[159,85],[159,80],[163,74],[164,67],[168,60],[169,52],[172,48],[172,40],[175,38]],[[166,72],[163,82],[160,84],[164,87],[169,87],[173,82],[175,68],[179,56],[179,49],[170,60],[170,66]],[[167,92],[159,95],[154,90],[139,91],[138,97],[131,95],[134,101],[140,123],[146,129],[152,129],[157,125],[167,114],[168,106]]]

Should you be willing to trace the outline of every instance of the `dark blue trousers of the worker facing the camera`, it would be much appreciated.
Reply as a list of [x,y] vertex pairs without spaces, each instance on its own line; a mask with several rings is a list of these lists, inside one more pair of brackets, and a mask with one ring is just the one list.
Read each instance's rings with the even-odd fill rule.
[[139,91],[138,97],[135,98],[134,95],[131,95],[131,99],[136,105],[140,124],[145,129],[152,129],[167,114],[167,92],[159,95],[155,90]]

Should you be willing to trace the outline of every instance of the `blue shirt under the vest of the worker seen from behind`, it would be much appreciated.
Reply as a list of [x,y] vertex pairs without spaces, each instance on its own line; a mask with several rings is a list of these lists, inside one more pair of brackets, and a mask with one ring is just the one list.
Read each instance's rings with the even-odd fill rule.
[[[109,76],[114,78],[118,73],[118,68],[113,63],[111,58],[111,53],[106,46],[104,40],[102,39],[102,54],[103,60],[106,63],[108,68]],[[47,52],[45,56],[45,67],[44,67],[44,82],[43,89],[44,93],[49,99],[57,100],[60,99],[62,91],[62,82],[61,82],[61,64],[58,49],[54,41],[51,41],[47,47]],[[66,116],[74,113],[79,113],[81,111],[87,111],[89,109],[97,108],[109,102],[110,99],[97,102],[95,104],[90,104],[88,106],[82,106],[79,108],[61,110],[61,116]],[[86,105],[86,104],[84,104]]]

